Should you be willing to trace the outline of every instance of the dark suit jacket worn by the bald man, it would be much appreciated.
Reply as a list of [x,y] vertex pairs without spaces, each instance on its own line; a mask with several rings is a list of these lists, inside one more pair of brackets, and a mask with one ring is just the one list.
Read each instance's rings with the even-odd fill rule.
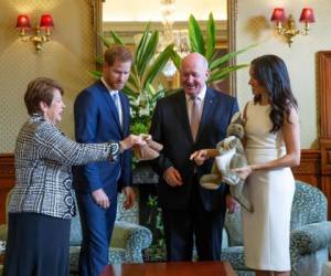
[[[211,172],[213,163],[213,160],[207,160],[203,166],[196,167],[190,160],[191,153],[199,149],[215,148],[216,144],[225,138],[226,128],[237,110],[236,98],[207,88],[196,141],[194,142],[184,92],[180,91],[158,102],[150,132],[156,141],[163,145],[160,157],[152,161],[153,169],[160,176],[158,191],[161,206],[170,210],[183,210],[189,206],[191,189],[194,184],[194,167],[200,178]],[[180,187],[172,188],[163,180],[166,169],[171,166],[181,173],[183,184]],[[207,211],[225,208],[226,189],[225,184],[216,191],[210,191],[199,185],[204,208]]]

